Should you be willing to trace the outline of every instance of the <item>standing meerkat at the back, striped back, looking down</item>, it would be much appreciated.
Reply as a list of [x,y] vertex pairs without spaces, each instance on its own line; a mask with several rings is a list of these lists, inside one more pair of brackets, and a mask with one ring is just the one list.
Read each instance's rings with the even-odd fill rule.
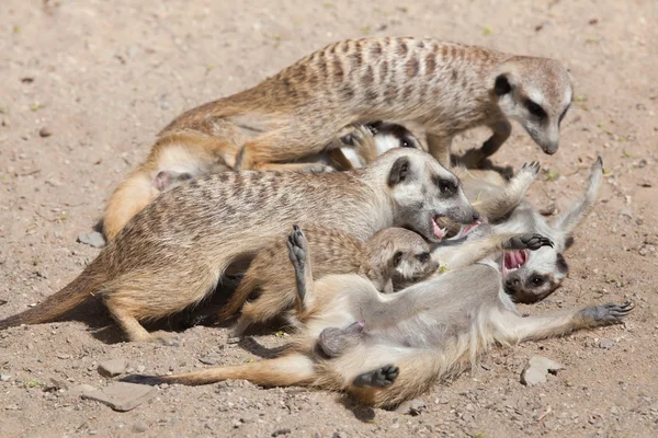
[[455,135],[481,125],[492,129],[472,153],[470,161],[480,161],[510,136],[509,119],[555,153],[571,95],[567,70],[547,58],[428,38],[333,43],[249,90],[174,119],[110,197],[104,232],[114,238],[158,195],[162,171],[194,176],[234,168],[242,150],[242,169],[305,169],[308,163],[291,161],[331,148],[344,127],[360,123],[406,126],[446,166]]

